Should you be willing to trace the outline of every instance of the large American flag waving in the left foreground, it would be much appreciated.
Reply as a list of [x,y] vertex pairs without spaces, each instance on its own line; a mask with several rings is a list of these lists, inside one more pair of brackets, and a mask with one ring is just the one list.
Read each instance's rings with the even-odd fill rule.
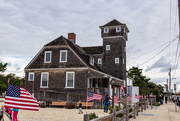
[[24,88],[8,84],[5,107],[39,111],[39,103]]

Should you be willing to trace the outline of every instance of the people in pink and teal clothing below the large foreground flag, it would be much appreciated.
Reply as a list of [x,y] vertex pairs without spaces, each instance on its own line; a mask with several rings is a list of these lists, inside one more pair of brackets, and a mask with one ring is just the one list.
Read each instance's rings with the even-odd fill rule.
[[[0,121],[2,120],[3,118],[3,112],[6,112],[8,117],[12,120],[12,121],[18,121],[17,119],[17,114],[19,112],[19,109],[16,109],[16,108],[4,108],[4,106],[1,106],[1,109],[0,109]],[[13,119],[12,119],[12,114],[13,114]]]

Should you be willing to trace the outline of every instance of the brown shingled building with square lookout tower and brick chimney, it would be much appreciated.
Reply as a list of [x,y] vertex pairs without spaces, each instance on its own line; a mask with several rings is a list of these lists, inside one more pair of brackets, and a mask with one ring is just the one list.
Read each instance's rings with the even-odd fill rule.
[[110,82],[123,85],[126,79],[129,30],[115,19],[100,29],[102,46],[80,47],[74,33],[44,45],[25,67],[25,88],[45,101],[85,101],[87,88],[111,95]]

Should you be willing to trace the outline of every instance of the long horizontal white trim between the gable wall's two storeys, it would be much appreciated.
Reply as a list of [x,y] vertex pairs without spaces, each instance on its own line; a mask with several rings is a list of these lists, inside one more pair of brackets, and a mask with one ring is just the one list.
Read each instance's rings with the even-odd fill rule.
[[25,71],[32,71],[32,70],[72,70],[72,69],[88,69],[88,67],[80,67],[80,68],[39,68],[39,69],[24,69]]

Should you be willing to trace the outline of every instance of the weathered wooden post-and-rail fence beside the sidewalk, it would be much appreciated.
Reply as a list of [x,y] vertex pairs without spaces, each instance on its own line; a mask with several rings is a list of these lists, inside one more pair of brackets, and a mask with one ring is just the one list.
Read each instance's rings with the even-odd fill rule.
[[[138,116],[138,113],[141,109],[141,111],[146,110],[146,108],[148,108],[148,99],[141,99],[141,107],[139,107],[139,102],[134,103],[133,105],[131,105],[130,107],[127,106],[125,109],[117,111],[114,108],[113,109],[113,113],[109,114],[107,116],[103,116],[103,117],[99,117],[93,120],[89,120],[89,115],[86,114],[84,115],[84,121],[123,121],[124,119],[126,119],[126,121],[129,120],[129,116],[132,115],[134,119],[136,119],[136,116]],[[140,109],[139,109],[140,108]],[[129,110],[132,109],[132,112],[129,112]],[[123,113],[125,114],[123,117],[117,119],[117,115]]]

